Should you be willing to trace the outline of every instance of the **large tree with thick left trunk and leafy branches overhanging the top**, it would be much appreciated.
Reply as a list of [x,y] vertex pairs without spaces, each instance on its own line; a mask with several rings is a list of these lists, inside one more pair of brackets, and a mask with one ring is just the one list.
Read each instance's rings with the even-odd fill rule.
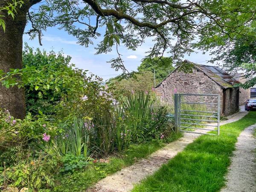
[[[13,0],[2,0],[0,7]],[[39,4],[40,3],[40,4]],[[30,9],[38,4],[38,9]],[[249,6],[248,6],[249,5]],[[84,46],[101,35],[96,53],[117,49],[118,44],[136,50],[145,38],[152,38],[151,57],[169,52],[173,61],[193,51],[196,38],[200,42],[215,41],[215,34],[232,37],[244,24],[255,19],[254,0],[23,0],[13,20],[8,10],[0,9],[6,28],[0,29],[0,70],[22,67],[22,35],[26,19],[32,29],[27,33],[39,37],[49,26],[66,30]],[[102,33],[100,28],[104,28]],[[115,48],[113,45],[115,44]],[[119,52],[118,52],[119,53]],[[126,70],[121,55],[111,60],[116,70]],[[24,116],[24,93],[13,87],[0,87],[0,107],[8,108],[16,117]]]

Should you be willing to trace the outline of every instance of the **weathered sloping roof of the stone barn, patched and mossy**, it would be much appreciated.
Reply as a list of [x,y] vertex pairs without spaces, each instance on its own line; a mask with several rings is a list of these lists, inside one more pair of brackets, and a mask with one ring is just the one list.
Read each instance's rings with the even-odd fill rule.
[[[239,83],[239,81],[234,79],[233,76],[231,76],[230,74],[222,70],[220,67],[196,64],[188,60],[185,60],[184,63],[193,64],[197,70],[203,72],[205,75],[207,75],[210,79],[215,81],[218,85],[220,85],[224,89],[227,89],[228,87],[232,87],[234,84]],[[173,72],[175,71],[176,70],[174,70]],[[165,81],[165,79],[163,81]],[[160,84],[157,87],[159,87]]]

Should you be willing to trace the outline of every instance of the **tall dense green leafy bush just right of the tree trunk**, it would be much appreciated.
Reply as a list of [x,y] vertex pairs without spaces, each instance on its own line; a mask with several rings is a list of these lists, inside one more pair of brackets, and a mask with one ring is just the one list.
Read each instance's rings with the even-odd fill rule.
[[[82,70],[70,64],[70,56],[63,53],[41,52],[25,46],[23,51],[24,87],[26,89],[26,107],[32,114],[41,111],[51,115],[56,113],[55,105],[61,101],[71,101],[84,96],[83,87],[89,80]],[[25,77],[27,78],[25,80]]]

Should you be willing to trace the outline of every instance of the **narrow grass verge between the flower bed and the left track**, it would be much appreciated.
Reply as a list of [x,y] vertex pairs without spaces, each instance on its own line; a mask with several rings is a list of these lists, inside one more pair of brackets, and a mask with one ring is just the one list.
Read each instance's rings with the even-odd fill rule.
[[[172,142],[180,137],[181,134],[172,134],[167,141]],[[56,186],[54,191],[85,191],[98,180],[106,177],[107,175],[111,175],[126,166],[134,164],[136,160],[148,157],[148,155],[162,148],[164,145],[165,143],[163,143],[161,140],[131,145],[126,151],[111,157],[110,163],[94,163],[84,170],[59,175],[56,178]]]

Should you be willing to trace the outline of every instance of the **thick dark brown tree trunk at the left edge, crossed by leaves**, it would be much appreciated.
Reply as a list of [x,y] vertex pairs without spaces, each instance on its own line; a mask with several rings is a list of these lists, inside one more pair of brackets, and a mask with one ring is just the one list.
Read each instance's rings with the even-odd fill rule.
[[[0,0],[0,7],[12,0]],[[6,12],[3,19],[6,22],[6,31],[0,27],[0,70],[8,72],[10,68],[22,68],[23,32],[26,26],[26,14],[29,10],[29,1],[24,0],[21,8],[17,8],[17,14],[13,20]],[[23,119],[26,114],[25,91],[17,86],[9,89],[0,83],[0,108],[8,109],[15,118]]]

